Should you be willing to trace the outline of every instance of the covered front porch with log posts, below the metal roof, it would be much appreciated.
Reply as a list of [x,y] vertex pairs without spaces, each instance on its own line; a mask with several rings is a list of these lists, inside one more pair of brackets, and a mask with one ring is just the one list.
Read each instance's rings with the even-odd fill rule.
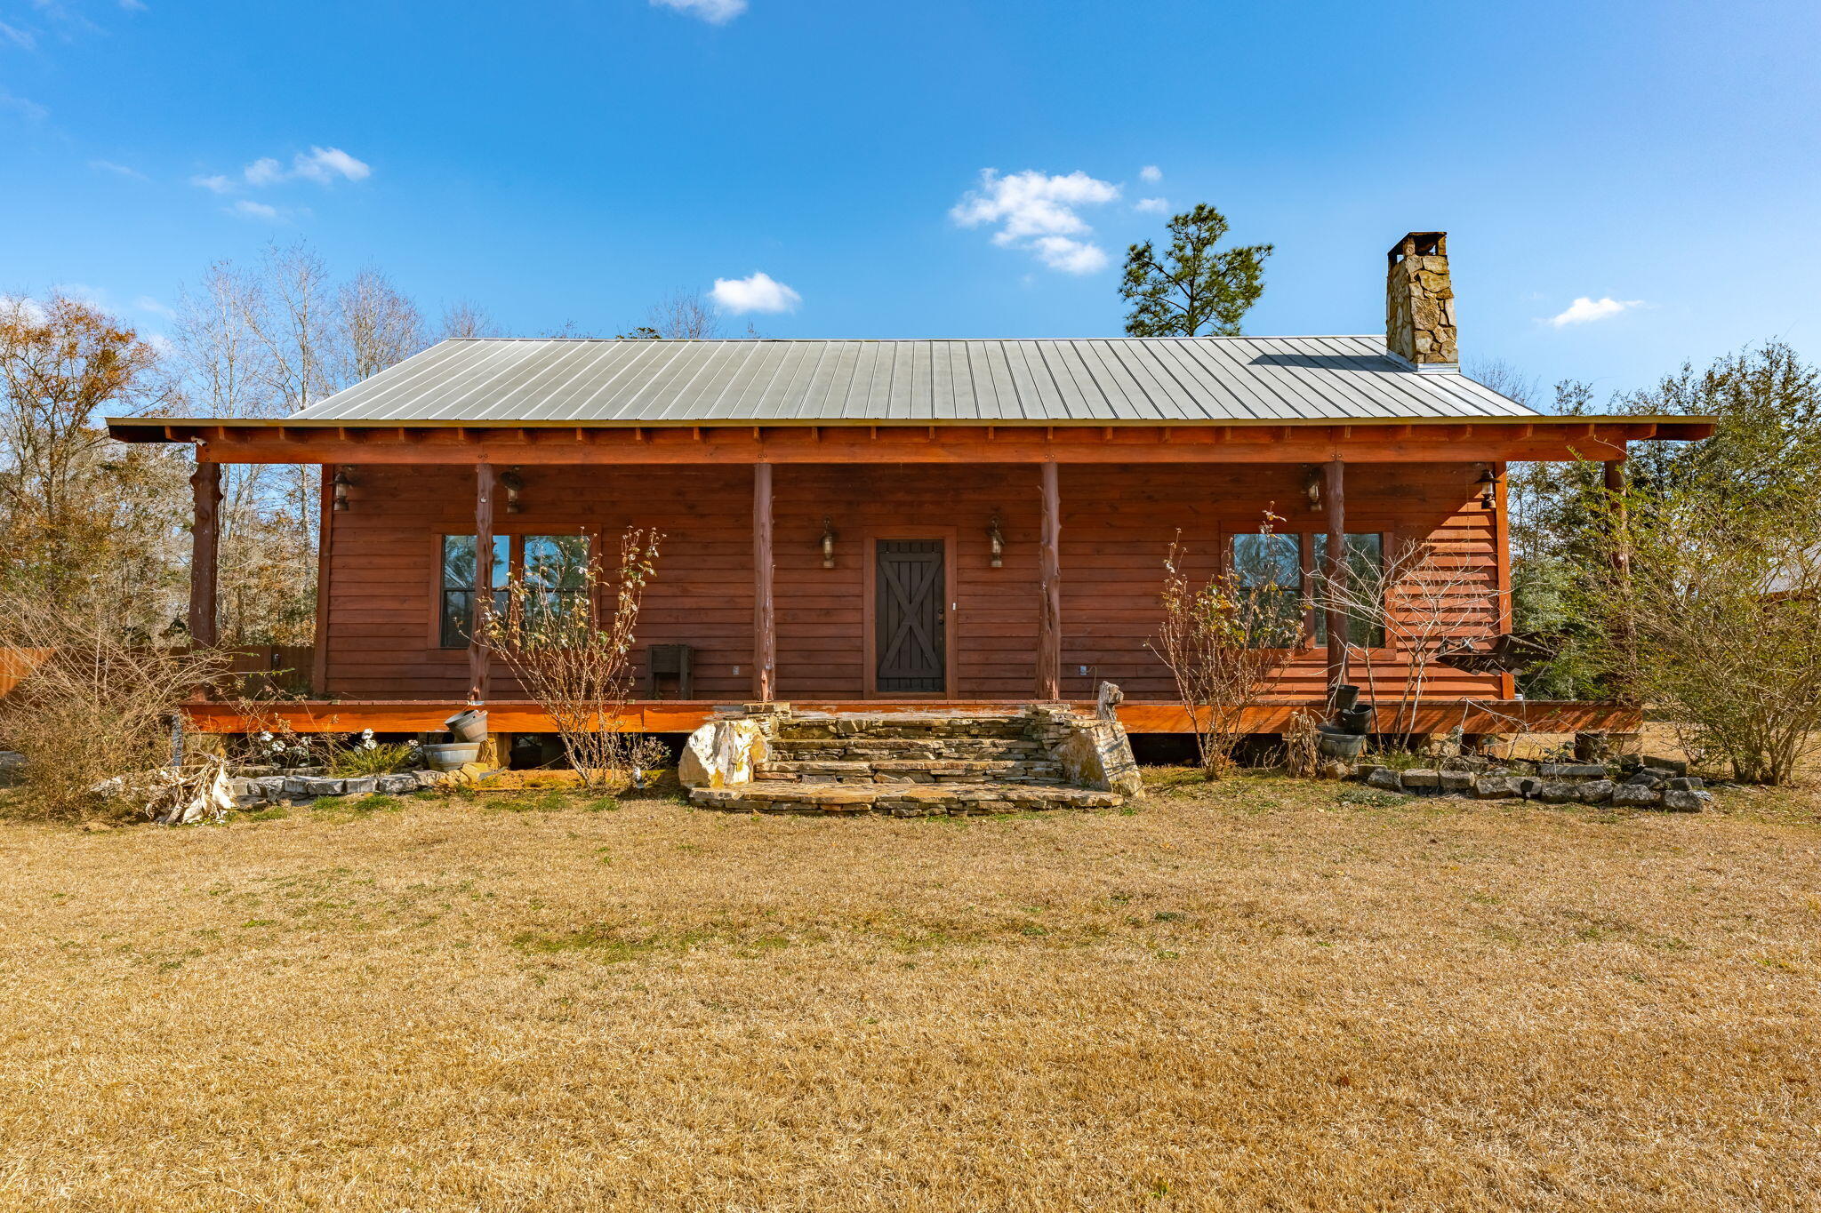
[[[198,449],[191,629],[215,638],[219,467],[322,466],[322,556],[311,695],[262,706],[299,731],[412,733],[484,704],[495,731],[550,731],[484,644],[450,626],[526,549],[601,549],[630,526],[665,533],[623,727],[681,733],[739,702],[812,711],[1000,709],[1127,695],[1134,733],[1189,731],[1149,649],[1162,560],[1222,567],[1266,516],[1304,575],[1328,536],[1426,540],[1475,571],[1462,638],[1508,629],[1508,458],[1604,458],[1661,424],[1497,422],[1222,426],[168,426]],[[149,435],[148,435],[149,436]],[[495,551],[452,584],[450,544]],[[479,567],[475,567],[479,566]],[[1349,653],[1309,620],[1282,680],[1247,717],[1280,731],[1348,678],[1349,657],[1395,671],[1395,642]],[[688,651],[656,684],[652,646]],[[1393,709],[1397,678],[1375,695]],[[1635,711],[1539,704],[1508,673],[1439,667],[1411,706],[1420,731],[1630,727]],[[242,731],[222,704],[197,727]]]

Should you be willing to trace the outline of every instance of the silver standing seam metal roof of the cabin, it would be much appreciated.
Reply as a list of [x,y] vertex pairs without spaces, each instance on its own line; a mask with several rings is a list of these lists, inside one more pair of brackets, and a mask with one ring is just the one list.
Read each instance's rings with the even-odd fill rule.
[[286,420],[1246,422],[1537,416],[1382,336],[446,340]]

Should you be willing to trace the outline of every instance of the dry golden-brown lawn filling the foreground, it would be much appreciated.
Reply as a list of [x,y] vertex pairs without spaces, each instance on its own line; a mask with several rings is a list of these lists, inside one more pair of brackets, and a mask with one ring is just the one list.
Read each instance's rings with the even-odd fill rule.
[[1814,1209],[1821,818],[0,822],[0,1208]]

